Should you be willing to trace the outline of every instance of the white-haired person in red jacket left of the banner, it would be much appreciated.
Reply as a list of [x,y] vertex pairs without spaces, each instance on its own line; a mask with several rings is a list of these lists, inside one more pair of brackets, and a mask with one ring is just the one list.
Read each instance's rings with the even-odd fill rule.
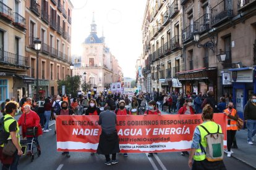
[[[22,126],[22,137],[23,138],[27,137],[28,141],[30,141],[34,138],[36,144],[38,144],[38,149],[40,149],[39,142],[38,142],[38,136],[43,134],[43,130],[40,126],[39,116],[37,115],[37,113],[35,113],[35,111],[30,110],[30,105],[25,105],[23,107],[23,114],[20,116],[20,118],[18,120],[18,124],[19,124],[19,126]],[[26,134],[28,127],[38,127],[36,136],[28,136]]]

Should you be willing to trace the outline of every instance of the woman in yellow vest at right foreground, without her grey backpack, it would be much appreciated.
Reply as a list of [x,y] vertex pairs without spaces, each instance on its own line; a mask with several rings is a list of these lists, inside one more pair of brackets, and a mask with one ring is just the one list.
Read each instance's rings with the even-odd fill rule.
[[[202,111],[203,125],[210,133],[215,133],[220,128],[219,132],[222,132],[220,125],[213,121],[213,108],[209,104],[203,107]],[[221,161],[208,161],[206,159],[205,152],[201,150],[201,147],[206,148],[207,142],[205,141],[205,136],[208,133],[201,126],[195,127],[193,141],[190,149],[189,155],[189,167],[192,169],[226,169],[223,160]]]

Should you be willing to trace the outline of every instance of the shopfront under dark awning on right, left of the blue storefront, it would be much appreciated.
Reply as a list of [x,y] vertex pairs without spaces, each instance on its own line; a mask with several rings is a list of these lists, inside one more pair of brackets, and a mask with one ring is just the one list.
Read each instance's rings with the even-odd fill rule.
[[182,71],[176,73],[176,76],[182,83],[182,92],[184,94],[213,91],[215,98],[217,97],[217,68],[210,67]]

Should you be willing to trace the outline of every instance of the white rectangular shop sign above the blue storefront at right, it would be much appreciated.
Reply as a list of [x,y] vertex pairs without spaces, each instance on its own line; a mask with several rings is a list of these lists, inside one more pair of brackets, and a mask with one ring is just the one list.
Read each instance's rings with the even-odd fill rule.
[[241,70],[232,72],[232,82],[252,83],[253,82],[253,70]]

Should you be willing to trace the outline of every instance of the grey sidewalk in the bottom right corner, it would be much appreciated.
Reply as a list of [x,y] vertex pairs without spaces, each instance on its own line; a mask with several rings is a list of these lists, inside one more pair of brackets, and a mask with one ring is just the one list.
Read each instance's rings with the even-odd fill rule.
[[256,142],[254,145],[247,144],[247,129],[236,132],[237,149],[232,148],[231,156],[256,169]]

